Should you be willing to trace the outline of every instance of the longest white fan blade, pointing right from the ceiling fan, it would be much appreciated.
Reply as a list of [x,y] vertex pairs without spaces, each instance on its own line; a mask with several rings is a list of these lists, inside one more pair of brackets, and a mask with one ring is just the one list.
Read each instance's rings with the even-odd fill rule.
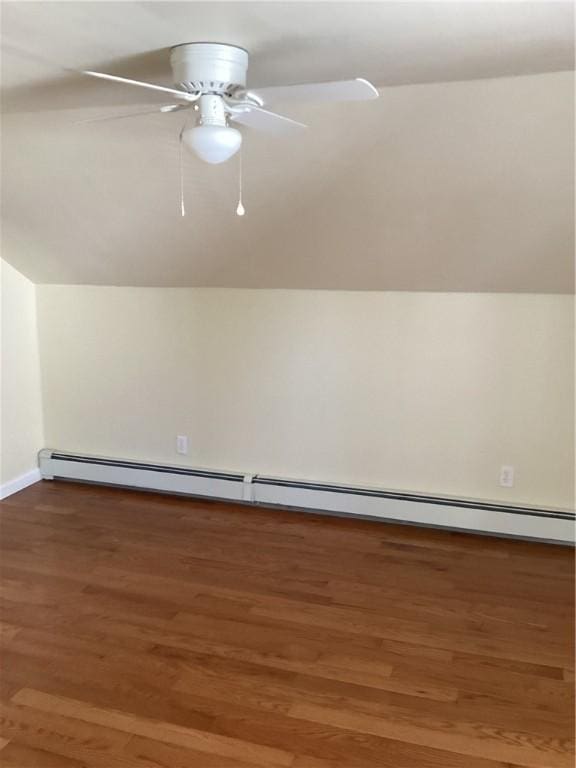
[[368,80],[357,77],[355,80],[337,80],[331,83],[250,88],[247,95],[255,96],[263,104],[271,104],[282,101],[367,101],[377,99],[380,94]]

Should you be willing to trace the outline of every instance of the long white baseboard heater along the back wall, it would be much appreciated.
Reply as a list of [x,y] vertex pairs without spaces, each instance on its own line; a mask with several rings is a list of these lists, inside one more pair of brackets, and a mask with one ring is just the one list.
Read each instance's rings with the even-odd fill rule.
[[45,480],[78,480],[209,496],[555,543],[573,544],[575,540],[576,517],[567,511],[148,464],[50,449],[40,451],[39,463]]

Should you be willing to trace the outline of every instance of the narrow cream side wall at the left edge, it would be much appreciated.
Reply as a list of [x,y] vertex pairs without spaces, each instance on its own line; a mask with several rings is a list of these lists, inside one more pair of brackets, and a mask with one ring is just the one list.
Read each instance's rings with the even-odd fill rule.
[[34,285],[0,262],[2,377],[0,484],[37,468],[43,447]]

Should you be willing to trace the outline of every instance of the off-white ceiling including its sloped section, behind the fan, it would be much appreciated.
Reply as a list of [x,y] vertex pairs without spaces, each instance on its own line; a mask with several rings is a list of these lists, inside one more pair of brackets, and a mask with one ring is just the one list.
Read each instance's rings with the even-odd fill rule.
[[[573,68],[572,3],[1,7],[3,256],[36,282],[572,289],[572,82],[528,77]],[[286,107],[301,139],[247,131],[243,219],[237,163],[188,157],[182,219],[182,117],[78,125],[164,100],[69,70],[170,84],[169,47],[196,40],[247,48],[252,86],[382,97]]]

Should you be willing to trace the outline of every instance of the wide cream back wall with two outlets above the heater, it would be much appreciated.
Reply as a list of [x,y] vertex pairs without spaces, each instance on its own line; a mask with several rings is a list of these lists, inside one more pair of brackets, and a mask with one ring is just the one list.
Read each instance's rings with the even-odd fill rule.
[[569,296],[39,286],[38,312],[52,448],[573,504]]

